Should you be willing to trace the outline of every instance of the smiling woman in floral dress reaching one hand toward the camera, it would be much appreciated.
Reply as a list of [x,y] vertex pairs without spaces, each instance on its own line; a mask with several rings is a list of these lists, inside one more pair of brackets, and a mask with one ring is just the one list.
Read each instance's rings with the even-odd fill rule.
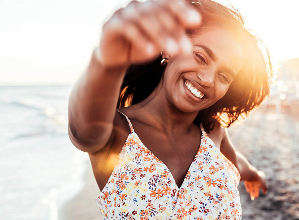
[[254,199],[266,177],[224,127],[260,105],[271,75],[234,9],[147,1],[115,12],[69,101],[104,219],[241,219],[239,180]]

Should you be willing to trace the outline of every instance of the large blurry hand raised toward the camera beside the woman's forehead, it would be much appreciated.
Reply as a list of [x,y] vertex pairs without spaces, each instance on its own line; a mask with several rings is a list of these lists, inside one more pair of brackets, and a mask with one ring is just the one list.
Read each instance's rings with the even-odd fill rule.
[[187,28],[201,22],[198,11],[184,1],[132,1],[103,25],[98,54],[104,66],[129,66],[170,54],[191,51]]

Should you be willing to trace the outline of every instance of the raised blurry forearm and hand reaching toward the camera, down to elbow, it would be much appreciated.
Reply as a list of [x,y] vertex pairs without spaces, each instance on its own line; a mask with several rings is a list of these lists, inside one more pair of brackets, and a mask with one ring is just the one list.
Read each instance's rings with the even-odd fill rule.
[[132,1],[116,11],[103,25],[100,44],[71,92],[68,105],[71,142],[89,153],[106,147],[112,136],[126,69],[155,59],[162,49],[172,54],[186,48],[191,51],[186,30],[198,28],[200,22],[198,11],[179,0]]

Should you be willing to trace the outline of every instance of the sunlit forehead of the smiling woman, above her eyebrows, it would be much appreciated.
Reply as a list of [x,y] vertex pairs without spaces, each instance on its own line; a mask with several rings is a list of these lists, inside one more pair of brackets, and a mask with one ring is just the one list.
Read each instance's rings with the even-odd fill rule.
[[[241,41],[230,31],[223,28],[205,28],[191,36],[193,45],[208,47],[216,57],[216,62],[239,72],[244,63],[244,50]],[[193,50],[200,48],[194,47]]]

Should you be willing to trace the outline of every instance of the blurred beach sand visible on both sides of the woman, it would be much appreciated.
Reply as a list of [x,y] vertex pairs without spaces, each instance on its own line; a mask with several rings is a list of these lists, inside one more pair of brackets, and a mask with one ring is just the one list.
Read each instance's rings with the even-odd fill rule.
[[[260,108],[242,125],[229,128],[229,136],[257,169],[266,173],[268,193],[251,201],[239,185],[243,220],[299,220],[299,109]],[[59,210],[59,220],[102,220],[95,198],[99,189],[91,166],[83,190]]]

